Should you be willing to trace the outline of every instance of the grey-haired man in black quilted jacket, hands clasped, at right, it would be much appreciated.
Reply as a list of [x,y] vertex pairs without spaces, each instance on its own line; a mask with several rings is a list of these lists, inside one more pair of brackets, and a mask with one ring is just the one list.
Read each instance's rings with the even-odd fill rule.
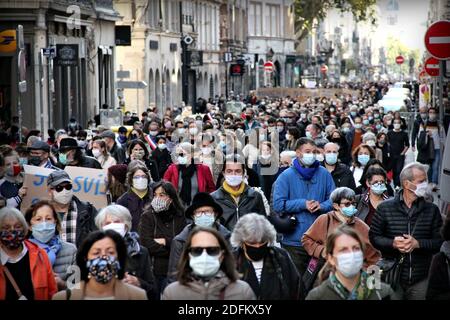
[[427,167],[408,164],[400,174],[402,189],[376,209],[369,231],[370,242],[384,259],[401,262],[398,285],[392,285],[400,299],[425,300],[431,259],[443,242],[439,208],[424,199],[427,195]]

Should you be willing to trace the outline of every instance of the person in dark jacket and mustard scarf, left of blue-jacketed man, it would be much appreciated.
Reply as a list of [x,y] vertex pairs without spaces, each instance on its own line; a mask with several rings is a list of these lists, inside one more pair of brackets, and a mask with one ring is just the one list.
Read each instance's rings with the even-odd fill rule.
[[222,173],[225,181],[211,196],[222,207],[223,215],[220,221],[228,230],[233,231],[238,219],[247,213],[265,215],[266,209],[261,194],[244,181],[245,164],[241,157],[226,157]]

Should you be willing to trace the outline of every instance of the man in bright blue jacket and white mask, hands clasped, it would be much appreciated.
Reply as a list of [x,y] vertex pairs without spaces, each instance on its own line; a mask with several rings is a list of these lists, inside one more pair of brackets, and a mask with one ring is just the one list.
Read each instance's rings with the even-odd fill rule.
[[295,214],[298,224],[294,232],[283,234],[281,244],[291,255],[301,275],[310,257],[301,238],[316,218],[332,210],[330,194],[335,189],[333,177],[315,158],[316,145],[309,138],[297,141],[292,167],[275,181],[273,208],[277,214]]

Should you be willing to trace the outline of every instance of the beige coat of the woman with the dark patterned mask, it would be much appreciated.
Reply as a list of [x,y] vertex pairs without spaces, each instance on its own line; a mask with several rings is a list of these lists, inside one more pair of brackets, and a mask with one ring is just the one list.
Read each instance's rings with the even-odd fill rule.
[[[79,289],[71,290],[69,299],[67,299],[67,291],[64,290],[56,293],[52,300],[84,300],[85,286],[86,283],[81,281]],[[147,300],[147,293],[141,288],[117,280],[114,286],[114,298],[115,300]]]

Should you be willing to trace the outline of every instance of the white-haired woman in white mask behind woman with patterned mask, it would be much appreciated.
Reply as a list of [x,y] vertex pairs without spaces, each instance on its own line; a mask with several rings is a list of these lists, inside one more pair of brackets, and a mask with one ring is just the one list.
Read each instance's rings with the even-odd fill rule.
[[114,230],[125,240],[127,259],[123,282],[144,289],[148,299],[159,296],[156,294],[149,252],[147,248],[140,245],[139,235],[130,231],[130,211],[120,205],[109,205],[95,217],[95,225],[99,230]]

